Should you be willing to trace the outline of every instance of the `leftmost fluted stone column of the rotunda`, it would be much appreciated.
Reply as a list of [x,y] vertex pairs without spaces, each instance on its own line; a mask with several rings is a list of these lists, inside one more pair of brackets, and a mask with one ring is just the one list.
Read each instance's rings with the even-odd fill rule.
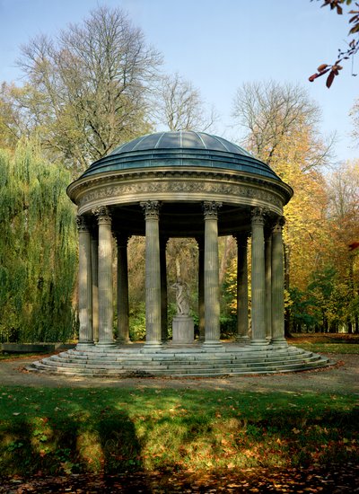
[[92,266],[91,236],[88,222],[83,216],[76,216],[79,233],[79,342],[77,347],[93,345],[92,330]]

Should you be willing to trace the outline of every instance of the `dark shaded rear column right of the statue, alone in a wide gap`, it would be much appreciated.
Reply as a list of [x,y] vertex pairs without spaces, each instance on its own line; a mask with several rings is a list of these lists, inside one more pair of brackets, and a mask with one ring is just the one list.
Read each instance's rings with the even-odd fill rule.
[[247,234],[235,236],[237,241],[237,341],[247,342],[248,335],[248,265]]

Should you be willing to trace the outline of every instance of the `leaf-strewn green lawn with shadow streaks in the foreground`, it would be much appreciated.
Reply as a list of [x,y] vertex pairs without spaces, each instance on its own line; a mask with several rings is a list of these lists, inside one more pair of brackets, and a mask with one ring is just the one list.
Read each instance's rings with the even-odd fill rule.
[[328,466],[358,440],[349,394],[0,387],[3,475]]

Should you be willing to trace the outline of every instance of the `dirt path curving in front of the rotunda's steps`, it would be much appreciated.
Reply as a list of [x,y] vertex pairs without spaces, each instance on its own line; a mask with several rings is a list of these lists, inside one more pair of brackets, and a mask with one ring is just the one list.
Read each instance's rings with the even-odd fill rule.
[[0,361],[0,384],[46,387],[189,388],[243,391],[285,391],[359,395],[359,355],[327,355],[337,364],[325,369],[276,375],[215,378],[99,378],[30,373],[23,367],[39,357]]

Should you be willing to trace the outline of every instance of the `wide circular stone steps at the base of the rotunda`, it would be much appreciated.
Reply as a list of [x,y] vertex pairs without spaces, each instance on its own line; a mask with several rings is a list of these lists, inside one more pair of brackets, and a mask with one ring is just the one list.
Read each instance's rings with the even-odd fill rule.
[[[96,349],[96,347],[93,347]],[[242,347],[226,347],[221,352],[177,351],[144,352],[137,346],[125,351],[94,351],[71,349],[58,355],[45,357],[28,366],[37,372],[64,375],[172,375],[215,376],[251,375],[295,372],[328,366],[326,357],[296,347],[264,347],[248,351]],[[192,348],[193,349],[193,348]],[[235,351],[234,351],[235,350]],[[243,351],[240,351],[243,350]]]

